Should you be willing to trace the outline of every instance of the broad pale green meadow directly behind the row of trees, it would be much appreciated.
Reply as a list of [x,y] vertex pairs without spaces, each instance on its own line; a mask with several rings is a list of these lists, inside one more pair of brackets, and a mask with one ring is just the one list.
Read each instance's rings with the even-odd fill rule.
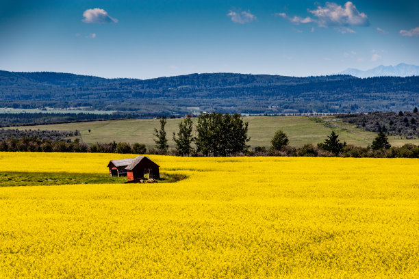
[[[317,119],[317,122],[315,121]],[[342,122],[334,116],[323,116],[312,120],[307,116],[254,116],[245,117],[249,121],[250,145],[270,146],[270,139],[275,131],[281,129],[290,137],[290,145],[303,146],[304,144],[317,144],[322,142],[327,135],[334,129],[340,135],[340,139],[348,144],[357,146],[368,146],[375,133],[357,129],[354,125]],[[169,139],[170,148],[174,147],[172,140],[173,132],[177,131],[181,119],[168,119],[166,131]],[[196,121],[196,120],[194,120]],[[159,127],[159,120],[114,120],[114,121],[94,121],[69,124],[51,124],[29,127],[17,127],[18,129],[41,129],[81,132],[81,137],[86,143],[96,142],[140,142],[151,147],[153,142],[153,129]],[[10,127],[9,129],[12,129]],[[90,133],[88,130],[91,130]],[[419,144],[419,139],[401,139],[390,137],[390,144],[401,146],[408,142]]]

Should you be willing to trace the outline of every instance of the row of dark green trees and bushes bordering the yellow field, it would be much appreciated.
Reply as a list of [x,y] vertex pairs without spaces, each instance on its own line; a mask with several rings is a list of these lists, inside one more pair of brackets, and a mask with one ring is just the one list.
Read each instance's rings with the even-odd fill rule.
[[172,137],[175,149],[168,149],[166,118],[160,119],[160,129],[154,130],[155,148],[147,150],[144,144],[126,142],[85,144],[80,139],[74,142],[39,139],[37,137],[9,138],[0,141],[0,151],[29,152],[104,152],[123,154],[164,154],[176,156],[296,156],[296,157],[409,157],[419,158],[419,146],[405,144],[391,146],[388,137],[379,131],[366,148],[341,142],[332,131],[323,142],[305,144],[300,148],[289,145],[288,135],[279,130],[271,139],[269,148],[257,146],[249,149],[247,144],[248,122],[238,114],[201,114],[196,124],[190,116],[179,122],[177,133]]

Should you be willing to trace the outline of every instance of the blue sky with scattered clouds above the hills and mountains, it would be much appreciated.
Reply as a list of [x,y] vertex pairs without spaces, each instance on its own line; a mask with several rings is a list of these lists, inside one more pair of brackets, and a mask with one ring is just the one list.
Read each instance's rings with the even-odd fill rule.
[[153,77],[419,65],[419,1],[0,0],[0,69]]

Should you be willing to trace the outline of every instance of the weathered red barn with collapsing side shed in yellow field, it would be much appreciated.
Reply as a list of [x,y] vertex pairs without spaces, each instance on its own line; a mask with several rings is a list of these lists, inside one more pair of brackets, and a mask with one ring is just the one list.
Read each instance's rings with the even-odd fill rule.
[[149,157],[138,156],[136,158],[112,160],[107,165],[110,176],[128,176],[128,181],[143,178],[148,174],[149,178],[160,179],[160,166],[151,161]]

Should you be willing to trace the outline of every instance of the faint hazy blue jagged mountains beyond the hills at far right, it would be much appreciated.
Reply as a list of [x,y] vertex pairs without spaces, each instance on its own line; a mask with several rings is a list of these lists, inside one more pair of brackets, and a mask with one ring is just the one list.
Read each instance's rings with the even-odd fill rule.
[[380,65],[370,70],[347,68],[340,72],[339,75],[352,75],[354,77],[411,77],[419,76],[419,66],[401,63],[396,66]]

